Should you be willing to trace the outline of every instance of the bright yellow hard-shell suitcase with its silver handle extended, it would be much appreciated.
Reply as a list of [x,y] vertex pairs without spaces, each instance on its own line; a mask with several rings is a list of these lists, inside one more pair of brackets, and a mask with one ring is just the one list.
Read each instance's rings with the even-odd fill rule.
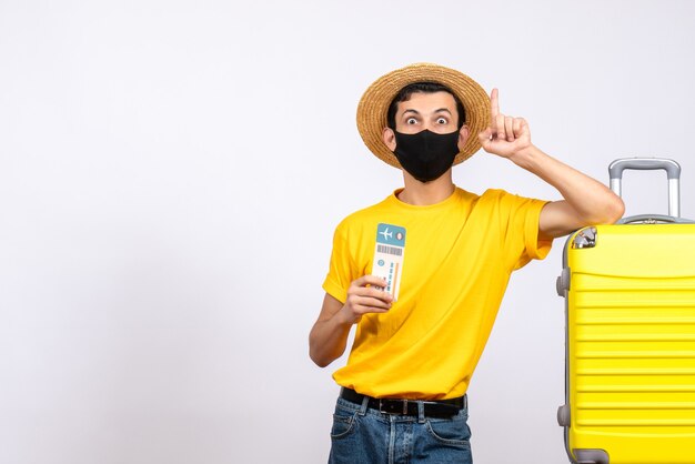
[[557,411],[572,463],[695,464],[695,223],[679,218],[681,167],[666,170],[669,215],[639,215],[570,236],[557,291],[566,303],[566,399]]

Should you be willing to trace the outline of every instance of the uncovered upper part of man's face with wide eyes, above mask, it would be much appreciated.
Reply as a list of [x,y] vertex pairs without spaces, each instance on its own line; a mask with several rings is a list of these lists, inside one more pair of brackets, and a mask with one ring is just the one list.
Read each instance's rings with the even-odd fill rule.
[[[413,134],[429,129],[435,133],[452,133],[459,129],[456,101],[449,92],[415,92],[410,100],[402,101],[395,113],[396,132]],[[469,137],[469,128],[463,125],[459,135],[462,149]],[[395,149],[393,131],[384,129],[384,143],[391,151]]]

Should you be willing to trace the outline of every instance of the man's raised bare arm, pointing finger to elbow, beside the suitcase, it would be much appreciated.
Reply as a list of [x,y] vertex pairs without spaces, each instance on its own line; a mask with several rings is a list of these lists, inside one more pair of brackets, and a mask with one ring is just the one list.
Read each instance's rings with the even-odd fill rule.
[[536,174],[557,189],[564,199],[546,204],[541,211],[541,238],[552,239],[583,225],[613,223],[621,219],[625,206],[620,196],[531,143],[531,130],[523,118],[500,113],[497,89],[493,89],[490,104],[490,127],[479,134],[483,149]]

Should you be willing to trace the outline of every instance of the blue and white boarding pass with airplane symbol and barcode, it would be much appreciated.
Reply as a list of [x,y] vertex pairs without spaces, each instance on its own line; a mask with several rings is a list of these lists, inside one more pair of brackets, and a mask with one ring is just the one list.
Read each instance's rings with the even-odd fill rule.
[[376,245],[372,275],[384,279],[386,288],[382,289],[399,299],[401,275],[403,273],[403,253],[405,251],[405,229],[400,225],[381,223],[376,226]]

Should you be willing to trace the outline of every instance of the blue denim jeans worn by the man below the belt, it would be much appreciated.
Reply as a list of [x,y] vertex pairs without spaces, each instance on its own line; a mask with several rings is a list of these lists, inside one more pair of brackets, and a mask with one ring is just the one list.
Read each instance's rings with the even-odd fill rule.
[[383,414],[338,399],[329,464],[472,464],[466,408],[452,418]]

